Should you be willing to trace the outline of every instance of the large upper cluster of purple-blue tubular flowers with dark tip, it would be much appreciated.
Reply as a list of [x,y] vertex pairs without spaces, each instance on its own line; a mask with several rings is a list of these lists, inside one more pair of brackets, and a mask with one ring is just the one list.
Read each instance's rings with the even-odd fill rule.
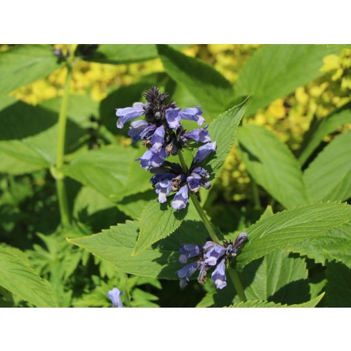
[[[146,103],[134,103],[132,107],[116,109],[118,116],[117,128],[123,128],[125,123],[131,122],[128,135],[133,142],[142,140],[147,151],[136,160],[140,167],[154,175],[151,184],[156,188],[158,201],[167,201],[167,195],[176,191],[173,209],[184,209],[188,202],[188,193],[198,193],[200,187],[209,189],[210,175],[202,166],[209,155],[215,152],[216,143],[211,142],[207,127],[186,131],[181,120],[193,120],[198,125],[204,123],[200,106],[180,109],[174,101],[167,103],[168,94],[161,93],[157,87],[151,87],[144,94]],[[135,120],[145,116],[142,120]],[[198,147],[191,167],[182,169],[179,164],[166,160],[168,156],[175,156],[184,147]]]

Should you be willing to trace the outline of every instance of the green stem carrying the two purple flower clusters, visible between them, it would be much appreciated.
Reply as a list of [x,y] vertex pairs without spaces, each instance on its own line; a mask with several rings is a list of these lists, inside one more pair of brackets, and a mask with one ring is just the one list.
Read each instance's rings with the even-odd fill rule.
[[[181,151],[178,151],[178,157],[179,157],[180,165],[182,166],[183,172],[187,174],[188,167],[187,167],[187,164],[185,163],[185,160],[184,160],[184,157],[182,156]],[[196,197],[196,195],[194,193],[190,193],[190,198],[195,206],[196,211],[198,211],[198,214],[200,215],[202,222],[204,222],[204,225],[206,226],[206,229],[209,232],[209,235],[213,240],[213,242],[220,242],[211,222],[209,221],[209,218],[207,218],[206,213],[204,213],[204,210],[202,209],[201,204],[198,201],[198,198]],[[242,287],[242,282],[240,281],[239,275],[237,275],[237,271],[234,268],[228,268],[228,272],[229,272],[229,276],[231,277],[231,280],[233,281],[235,290],[237,291],[237,295],[239,295],[242,301],[246,302],[247,299],[245,296],[244,288]]]

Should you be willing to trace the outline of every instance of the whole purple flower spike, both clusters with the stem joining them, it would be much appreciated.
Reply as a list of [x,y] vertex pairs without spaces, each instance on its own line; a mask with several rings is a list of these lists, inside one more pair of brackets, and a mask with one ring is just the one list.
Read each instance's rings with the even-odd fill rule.
[[[247,240],[248,235],[246,232],[240,233],[234,244],[231,242],[224,242],[223,246],[218,244],[217,235],[195,198],[201,187],[204,189],[211,187],[209,181],[211,175],[206,170],[206,160],[215,153],[216,142],[212,142],[207,131],[208,126],[188,132],[182,126],[182,119],[193,120],[198,125],[204,123],[200,106],[182,110],[174,101],[167,103],[169,95],[161,93],[155,86],[145,92],[144,96],[146,103],[137,102],[132,107],[116,109],[117,128],[123,128],[125,123],[145,116],[144,120],[131,123],[128,135],[133,142],[142,140],[142,145],[147,147],[142,157],[136,160],[140,161],[140,167],[155,173],[150,181],[158,194],[158,202],[161,204],[167,202],[167,195],[175,192],[171,206],[175,210],[183,210],[187,207],[189,193],[193,194],[192,199],[196,209],[213,240],[207,241],[202,246],[182,244],[179,249],[179,262],[185,264],[189,258],[195,257],[197,260],[178,270],[180,286],[186,286],[196,270],[200,270],[198,281],[203,284],[207,271],[215,268],[211,277],[215,287],[222,289],[226,286],[226,265],[229,265],[231,257],[237,255],[237,251]],[[185,148],[197,148],[189,169],[182,156],[182,149]],[[167,161],[166,158],[171,155],[178,155],[180,164]],[[235,284],[238,290],[242,291],[240,281],[235,281]]]

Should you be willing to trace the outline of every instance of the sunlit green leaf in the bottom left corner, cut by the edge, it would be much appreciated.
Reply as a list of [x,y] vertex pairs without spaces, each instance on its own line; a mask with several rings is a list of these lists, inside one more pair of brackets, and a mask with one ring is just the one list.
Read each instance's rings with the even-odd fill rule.
[[49,285],[17,248],[0,246],[0,286],[37,307],[56,307]]

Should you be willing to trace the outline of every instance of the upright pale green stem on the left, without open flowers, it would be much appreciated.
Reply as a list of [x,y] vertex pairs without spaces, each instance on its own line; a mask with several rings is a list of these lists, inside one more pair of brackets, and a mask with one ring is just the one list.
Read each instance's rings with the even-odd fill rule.
[[70,211],[68,209],[67,193],[65,189],[65,179],[61,173],[63,167],[63,156],[65,155],[65,135],[67,125],[67,107],[70,96],[70,84],[72,80],[72,67],[67,65],[67,76],[63,97],[61,102],[60,114],[58,115],[58,134],[57,134],[57,153],[56,153],[56,170],[59,176],[56,178],[56,188],[58,196],[58,205],[60,207],[61,222],[63,226],[70,224]]

